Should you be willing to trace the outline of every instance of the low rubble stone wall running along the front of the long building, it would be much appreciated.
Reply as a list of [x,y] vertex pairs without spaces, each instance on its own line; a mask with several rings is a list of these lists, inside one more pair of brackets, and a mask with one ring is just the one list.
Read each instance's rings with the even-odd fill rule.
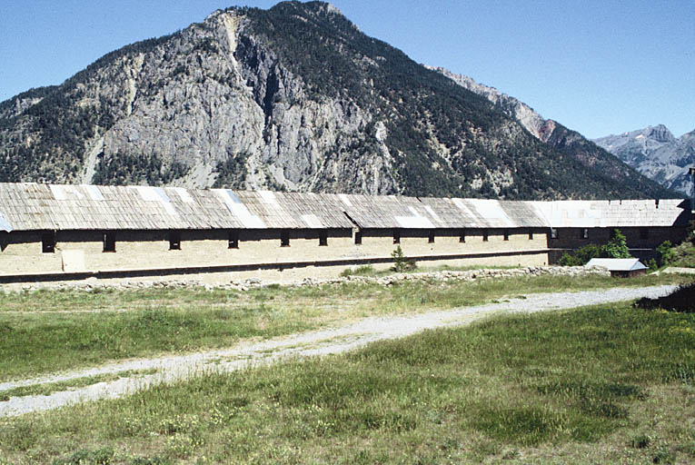
[[[315,286],[323,284],[341,284],[347,282],[374,283],[382,286],[390,286],[399,282],[441,281],[441,282],[473,282],[484,279],[503,279],[516,276],[610,276],[611,272],[602,267],[586,268],[583,266],[530,266],[525,268],[494,269],[482,268],[480,270],[466,271],[442,271],[442,272],[407,272],[393,273],[387,276],[341,276],[339,278],[304,278],[297,282],[284,282],[289,286]],[[205,283],[198,280],[168,280],[168,281],[110,281],[99,282],[96,279],[88,279],[84,282],[38,282],[31,284],[5,284],[2,288],[5,292],[31,292],[38,289],[56,290],[83,290],[86,292],[98,292],[105,289],[146,289],[146,288],[184,288],[202,287],[208,290],[228,289],[236,291],[248,291],[249,289],[277,284],[272,280],[261,278],[249,278],[243,281],[230,281],[220,283]]]

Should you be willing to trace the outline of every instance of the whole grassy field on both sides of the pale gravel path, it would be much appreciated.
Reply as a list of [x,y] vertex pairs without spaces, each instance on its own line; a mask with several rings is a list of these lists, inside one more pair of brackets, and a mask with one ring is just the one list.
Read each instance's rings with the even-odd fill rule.
[[[0,373],[226,346],[530,292],[686,279],[0,295]],[[138,373],[113,376],[130,374]],[[12,395],[97,381],[104,379]],[[495,317],[346,355],[208,371],[120,400],[0,419],[0,465],[479,462],[695,462],[695,313],[621,303]]]

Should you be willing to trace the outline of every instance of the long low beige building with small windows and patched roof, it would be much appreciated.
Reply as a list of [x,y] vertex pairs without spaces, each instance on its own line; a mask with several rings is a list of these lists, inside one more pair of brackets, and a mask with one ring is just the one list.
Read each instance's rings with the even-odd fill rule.
[[522,202],[0,183],[0,282],[198,272],[337,275],[422,264],[542,265],[618,228],[648,257],[680,242],[683,200]]

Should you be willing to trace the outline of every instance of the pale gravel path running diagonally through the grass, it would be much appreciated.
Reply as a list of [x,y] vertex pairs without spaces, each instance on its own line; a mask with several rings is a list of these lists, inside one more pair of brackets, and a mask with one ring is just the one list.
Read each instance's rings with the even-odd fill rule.
[[150,375],[99,382],[72,391],[54,392],[47,396],[12,397],[9,401],[0,401],[0,417],[46,411],[81,401],[122,397],[154,384],[184,380],[201,371],[233,371],[290,356],[308,357],[351,351],[372,341],[402,338],[426,329],[467,324],[494,313],[531,313],[629,301],[641,297],[658,297],[676,288],[677,285],[666,285],[637,289],[614,288],[601,291],[529,294],[525,298],[446,311],[365,318],[327,330],[309,331],[262,342],[241,342],[230,349],[122,361],[60,375],[3,382],[0,383],[0,393],[20,386],[75,380],[100,374],[157,370]]

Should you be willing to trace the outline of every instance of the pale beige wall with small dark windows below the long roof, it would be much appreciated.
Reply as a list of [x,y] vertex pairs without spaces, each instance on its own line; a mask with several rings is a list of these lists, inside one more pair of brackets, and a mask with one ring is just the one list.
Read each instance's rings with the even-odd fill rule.
[[[319,245],[317,230],[288,231],[289,246],[281,246],[279,230],[240,230],[238,248],[230,249],[228,231],[181,231],[181,250],[170,250],[169,232],[115,232],[115,252],[103,252],[103,232],[60,231],[55,235],[55,252],[42,252],[41,232],[14,232],[0,238],[0,273],[104,272],[116,270],[171,269],[244,264],[329,262],[334,260],[389,259],[397,247],[392,231],[364,231],[362,244],[355,244],[352,230],[326,231],[327,245]],[[460,231],[437,231],[434,242],[429,232],[400,230],[406,256],[449,256],[429,264],[542,265],[543,252],[497,257],[454,259],[452,255],[490,252],[539,251],[546,248],[546,234],[529,230],[490,230],[487,241],[482,231],[468,230],[465,242]],[[84,258],[83,258],[84,257]],[[424,261],[423,261],[424,262]],[[375,264],[375,266],[389,266]],[[344,264],[336,265],[343,270]],[[291,267],[285,267],[291,270]],[[333,270],[335,272],[335,270]]]

